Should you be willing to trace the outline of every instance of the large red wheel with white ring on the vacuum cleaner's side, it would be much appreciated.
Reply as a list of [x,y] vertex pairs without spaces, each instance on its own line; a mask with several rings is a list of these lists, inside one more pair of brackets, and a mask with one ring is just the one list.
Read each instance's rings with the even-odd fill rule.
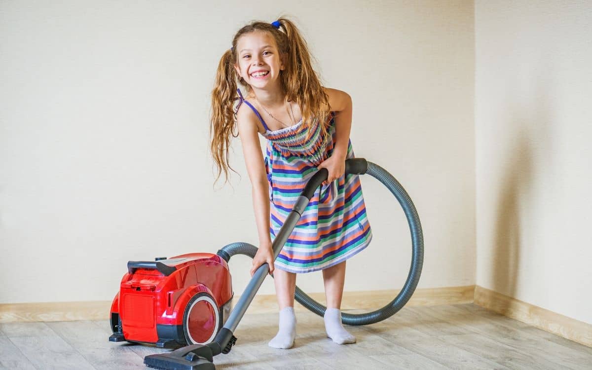
[[205,292],[195,294],[183,316],[183,332],[187,345],[210,343],[221,327],[220,308],[214,298]]

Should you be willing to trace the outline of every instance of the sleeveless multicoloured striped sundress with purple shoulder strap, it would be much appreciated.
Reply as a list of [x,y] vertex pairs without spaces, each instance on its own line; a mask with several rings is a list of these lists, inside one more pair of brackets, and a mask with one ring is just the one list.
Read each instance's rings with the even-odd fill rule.
[[[274,240],[304,186],[317,172],[317,166],[332,155],[335,121],[333,113],[330,114],[328,134],[333,140],[325,146],[318,122],[311,128],[313,133],[308,140],[302,120],[294,126],[271,131],[255,107],[243,99],[240,90],[238,92],[239,106],[242,102],[247,104],[265,128],[269,231]],[[347,157],[353,158],[351,141]],[[371,239],[359,176],[344,175],[317,188],[275,260],[275,267],[297,273],[325,269],[361,252]]]

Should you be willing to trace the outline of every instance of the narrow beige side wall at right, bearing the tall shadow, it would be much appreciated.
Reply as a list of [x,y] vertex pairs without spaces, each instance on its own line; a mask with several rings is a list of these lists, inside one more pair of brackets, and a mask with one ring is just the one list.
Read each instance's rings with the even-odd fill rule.
[[592,323],[592,4],[475,5],[477,284]]

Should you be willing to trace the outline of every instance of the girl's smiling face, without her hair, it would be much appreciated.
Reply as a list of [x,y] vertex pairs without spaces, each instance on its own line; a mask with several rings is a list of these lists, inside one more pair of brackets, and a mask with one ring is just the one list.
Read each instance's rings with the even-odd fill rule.
[[244,34],[237,40],[236,50],[234,68],[253,89],[279,86],[279,71],[284,70],[284,64],[273,36],[264,31]]

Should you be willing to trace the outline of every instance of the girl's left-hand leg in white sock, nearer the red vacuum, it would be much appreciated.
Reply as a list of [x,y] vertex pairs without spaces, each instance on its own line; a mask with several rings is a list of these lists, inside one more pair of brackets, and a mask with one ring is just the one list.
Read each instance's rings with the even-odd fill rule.
[[279,330],[274,339],[269,341],[273,348],[292,348],[296,337],[296,317],[294,316],[294,291],[296,274],[274,270],[275,294],[279,305]]

